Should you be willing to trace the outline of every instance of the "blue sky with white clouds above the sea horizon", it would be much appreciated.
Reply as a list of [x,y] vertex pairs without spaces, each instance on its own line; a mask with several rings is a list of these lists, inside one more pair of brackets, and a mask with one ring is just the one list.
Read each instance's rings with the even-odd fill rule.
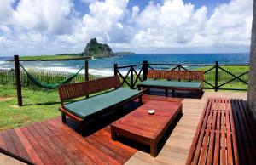
[[249,52],[253,0],[0,0],[0,57]]

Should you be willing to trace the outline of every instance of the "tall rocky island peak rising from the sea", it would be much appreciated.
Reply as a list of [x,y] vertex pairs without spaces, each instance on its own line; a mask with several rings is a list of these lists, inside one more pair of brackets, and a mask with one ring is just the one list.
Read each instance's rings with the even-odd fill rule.
[[93,58],[113,57],[114,53],[108,44],[98,43],[96,38],[92,38],[90,39],[90,43],[87,43],[84,48],[84,56],[90,56]]

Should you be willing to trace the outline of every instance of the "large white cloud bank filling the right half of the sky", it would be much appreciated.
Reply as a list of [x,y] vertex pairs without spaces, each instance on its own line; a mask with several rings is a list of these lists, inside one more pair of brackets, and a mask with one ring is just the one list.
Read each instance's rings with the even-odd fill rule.
[[252,9],[251,0],[233,0],[207,18],[207,7],[195,9],[182,0],[149,3],[137,16],[140,31],[133,43],[144,48],[248,46]]

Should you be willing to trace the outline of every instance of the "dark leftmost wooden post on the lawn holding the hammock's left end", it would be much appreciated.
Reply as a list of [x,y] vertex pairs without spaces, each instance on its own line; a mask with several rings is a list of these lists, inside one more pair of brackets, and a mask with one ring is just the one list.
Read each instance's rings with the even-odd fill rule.
[[22,106],[22,94],[21,94],[21,83],[20,83],[20,59],[19,55],[14,56],[15,59],[15,77],[16,77],[16,90],[18,105]]

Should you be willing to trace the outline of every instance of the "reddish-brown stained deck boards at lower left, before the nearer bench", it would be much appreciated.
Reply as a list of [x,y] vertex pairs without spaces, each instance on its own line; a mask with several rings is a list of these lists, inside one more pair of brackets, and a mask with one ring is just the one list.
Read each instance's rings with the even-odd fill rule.
[[0,147],[35,164],[123,164],[136,151],[112,141],[109,127],[83,138],[60,118],[2,132]]

